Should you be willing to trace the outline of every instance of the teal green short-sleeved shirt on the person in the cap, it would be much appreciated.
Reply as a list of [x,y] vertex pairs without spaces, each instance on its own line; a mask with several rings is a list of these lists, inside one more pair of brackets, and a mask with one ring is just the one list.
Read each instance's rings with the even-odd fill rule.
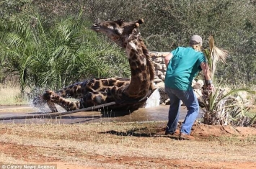
[[193,78],[202,70],[200,64],[206,62],[203,52],[192,47],[177,47],[172,50],[172,55],[167,66],[165,86],[182,91],[191,90]]

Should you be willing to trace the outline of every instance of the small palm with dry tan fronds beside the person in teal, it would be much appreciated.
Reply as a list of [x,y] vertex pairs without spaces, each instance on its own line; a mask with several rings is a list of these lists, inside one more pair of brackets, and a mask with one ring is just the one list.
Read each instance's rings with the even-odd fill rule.
[[[209,37],[209,50],[204,50],[206,58],[208,59],[208,67],[211,71],[211,79],[214,78],[216,65],[219,61],[225,63],[228,52],[216,47],[213,36]],[[207,91],[206,86],[201,101],[203,101],[203,123],[205,124],[233,124],[248,126],[252,124],[253,117],[249,119],[245,117],[244,112],[248,111],[250,107],[244,105],[244,100],[234,97],[235,93],[246,91],[248,93],[255,93],[249,88],[235,88],[230,91],[225,91],[221,88],[221,83],[216,87],[215,91]]]

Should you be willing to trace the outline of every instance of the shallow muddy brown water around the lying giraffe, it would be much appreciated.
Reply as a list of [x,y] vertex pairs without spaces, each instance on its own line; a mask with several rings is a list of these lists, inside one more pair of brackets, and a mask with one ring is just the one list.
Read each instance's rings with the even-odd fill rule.
[[[64,111],[57,107],[59,111]],[[142,108],[132,113],[120,111],[81,111],[75,114],[68,114],[62,117],[36,118],[36,119],[12,119],[1,120],[0,123],[21,123],[21,124],[79,124],[87,122],[149,122],[167,121],[169,106],[155,106]],[[0,117],[12,117],[17,115],[43,114],[39,109],[32,106],[0,106]],[[185,118],[187,109],[182,106],[180,119]],[[201,114],[198,115],[198,118]]]

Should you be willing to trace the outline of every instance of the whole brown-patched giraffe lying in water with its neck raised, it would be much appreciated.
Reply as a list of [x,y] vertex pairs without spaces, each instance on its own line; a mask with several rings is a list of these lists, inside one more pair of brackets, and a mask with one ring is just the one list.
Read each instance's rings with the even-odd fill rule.
[[[122,47],[129,61],[131,78],[92,78],[74,83],[59,91],[45,91],[34,99],[34,105],[47,103],[52,112],[55,104],[67,111],[115,101],[110,109],[134,111],[144,106],[147,97],[156,89],[154,83],[154,65],[149,52],[140,37],[138,27],[143,19],[124,22],[123,19],[105,21],[92,25],[92,30],[101,32]],[[79,99],[70,101],[67,97]]]

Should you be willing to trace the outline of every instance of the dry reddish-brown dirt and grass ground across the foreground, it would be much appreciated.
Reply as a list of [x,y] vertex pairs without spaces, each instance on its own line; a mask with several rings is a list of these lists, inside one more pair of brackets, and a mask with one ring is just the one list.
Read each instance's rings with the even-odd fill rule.
[[[0,167],[256,168],[256,128],[197,122],[196,140],[164,135],[166,122],[0,123]],[[9,166],[10,167],[10,166]]]

